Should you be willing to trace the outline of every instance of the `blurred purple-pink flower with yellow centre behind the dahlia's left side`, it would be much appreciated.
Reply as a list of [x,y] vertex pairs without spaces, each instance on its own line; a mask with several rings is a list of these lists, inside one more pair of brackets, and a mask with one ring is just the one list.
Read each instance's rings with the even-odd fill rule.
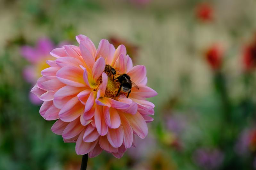
[[[49,54],[53,49],[54,43],[48,38],[39,39],[36,47],[21,47],[21,55],[30,63],[30,65],[23,70],[23,76],[27,82],[35,84],[37,79],[41,77],[41,71],[50,67],[45,61],[54,59],[54,57]],[[42,103],[42,101],[32,93],[29,94],[29,99],[34,104]]]

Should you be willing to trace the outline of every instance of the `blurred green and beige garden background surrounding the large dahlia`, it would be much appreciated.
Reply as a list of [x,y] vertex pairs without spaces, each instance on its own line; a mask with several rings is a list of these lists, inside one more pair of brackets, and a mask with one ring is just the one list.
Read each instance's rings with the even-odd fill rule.
[[78,170],[30,94],[49,52],[124,44],[158,92],[149,134],[88,169],[256,169],[255,0],[0,0],[0,169]]

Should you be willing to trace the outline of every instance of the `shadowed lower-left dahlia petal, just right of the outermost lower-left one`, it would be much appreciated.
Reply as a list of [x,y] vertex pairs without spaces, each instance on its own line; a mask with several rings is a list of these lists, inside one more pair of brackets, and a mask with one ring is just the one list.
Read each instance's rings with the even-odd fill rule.
[[65,139],[70,139],[77,136],[85,127],[81,125],[79,118],[70,122],[64,131],[62,132],[62,137]]

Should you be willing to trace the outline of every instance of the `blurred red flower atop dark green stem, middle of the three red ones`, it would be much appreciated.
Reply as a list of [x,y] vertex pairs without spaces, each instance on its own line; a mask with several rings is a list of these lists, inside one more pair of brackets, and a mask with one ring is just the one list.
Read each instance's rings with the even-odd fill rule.
[[219,70],[222,64],[223,51],[218,45],[212,45],[206,51],[205,58],[212,70]]

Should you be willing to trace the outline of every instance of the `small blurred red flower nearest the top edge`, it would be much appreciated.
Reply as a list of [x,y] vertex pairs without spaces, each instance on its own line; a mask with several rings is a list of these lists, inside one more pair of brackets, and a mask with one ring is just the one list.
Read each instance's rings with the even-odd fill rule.
[[213,9],[210,4],[201,3],[196,7],[196,16],[201,21],[212,21],[213,20]]

